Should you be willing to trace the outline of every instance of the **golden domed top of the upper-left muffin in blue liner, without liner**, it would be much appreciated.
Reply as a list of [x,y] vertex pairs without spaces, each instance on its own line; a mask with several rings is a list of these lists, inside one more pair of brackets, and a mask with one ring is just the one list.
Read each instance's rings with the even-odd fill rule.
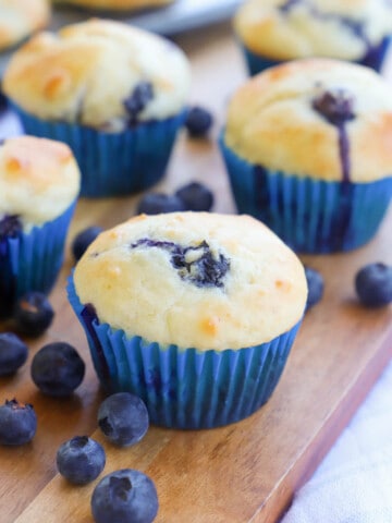
[[3,78],[4,93],[25,111],[107,132],[176,114],[188,88],[189,63],[177,46],[99,19],[36,35]]

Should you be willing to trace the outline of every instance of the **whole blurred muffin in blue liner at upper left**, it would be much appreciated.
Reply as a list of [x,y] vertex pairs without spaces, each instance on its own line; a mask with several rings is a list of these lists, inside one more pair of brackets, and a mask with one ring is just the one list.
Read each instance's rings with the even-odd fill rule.
[[3,78],[26,132],[70,145],[82,196],[131,194],[163,177],[188,88],[179,47],[99,19],[37,35]]

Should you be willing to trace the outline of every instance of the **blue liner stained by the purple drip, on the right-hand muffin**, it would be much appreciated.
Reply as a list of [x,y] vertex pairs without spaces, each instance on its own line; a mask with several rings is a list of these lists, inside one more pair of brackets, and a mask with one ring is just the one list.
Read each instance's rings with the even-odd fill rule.
[[370,241],[392,197],[392,177],[326,182],[255,166],[219,142],[240,212],[265,222],[299,253],[352,251]]

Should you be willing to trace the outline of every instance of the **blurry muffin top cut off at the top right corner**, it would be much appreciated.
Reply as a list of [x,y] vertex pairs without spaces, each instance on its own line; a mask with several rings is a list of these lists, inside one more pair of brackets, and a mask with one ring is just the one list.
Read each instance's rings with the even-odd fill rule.
[[357,60],[392,33],[389,0],[247,0],[234,29],[253,52],[275,60]]

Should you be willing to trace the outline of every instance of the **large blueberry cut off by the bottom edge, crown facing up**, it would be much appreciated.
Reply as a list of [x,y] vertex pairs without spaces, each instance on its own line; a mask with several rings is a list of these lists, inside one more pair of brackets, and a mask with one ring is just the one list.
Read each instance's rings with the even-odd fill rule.
[[96,523],[151,523],[159,502],[150,477],[133,469],[123,469],[105,476],[91,496]]

